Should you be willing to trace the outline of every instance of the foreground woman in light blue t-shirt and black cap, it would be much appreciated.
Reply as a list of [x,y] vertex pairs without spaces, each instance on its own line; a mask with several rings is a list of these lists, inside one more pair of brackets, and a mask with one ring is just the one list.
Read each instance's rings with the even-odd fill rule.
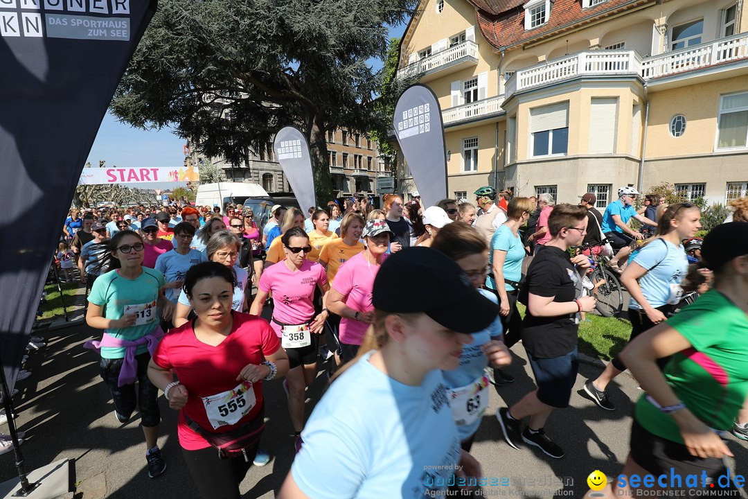
[[[419,283],[421,299],[392,293],[403,281]],[[388,257],[373,305],[358,358],[316,405],[279,498],[423,498],[444,494],[455,473],[462,485],[480,476],[460,450],[441,370],[459,366],[470,333],[490,325],[497,306],[431,248]]]

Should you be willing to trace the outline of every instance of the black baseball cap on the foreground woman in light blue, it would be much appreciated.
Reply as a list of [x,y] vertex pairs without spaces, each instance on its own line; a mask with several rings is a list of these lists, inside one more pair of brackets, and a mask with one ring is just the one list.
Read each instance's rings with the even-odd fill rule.
[[[402,282],[418,296],[403,300]],[[493,301],[482,296],[457,263],[432,248],[405,248],[384,260],[374,280],[373,305],[391,313],[426,313],[439,324],[459,333],[488,328],[499,313]]]

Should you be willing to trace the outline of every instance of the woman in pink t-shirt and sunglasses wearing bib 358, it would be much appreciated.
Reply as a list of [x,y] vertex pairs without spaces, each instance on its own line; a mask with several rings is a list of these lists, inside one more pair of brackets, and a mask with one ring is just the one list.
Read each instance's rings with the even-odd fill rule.
[[273,294],[270,325],[281,338],[289,358],[290,370],[284,387],[288,391],[288,411],[298,452],[304,429],[304,390],[314,381],[319,334],[330,314],[327,308],[322,308],[322,313],[315,316],[314,290],[319,287],[322,293],[327,293],[330,287],[325,268],[307,260],[312,247],[304,229],[289,228],[281,236],[281,243],[286,258],[265,269],[249,313],[257,316],[263,313],[265,299],[269,293]]

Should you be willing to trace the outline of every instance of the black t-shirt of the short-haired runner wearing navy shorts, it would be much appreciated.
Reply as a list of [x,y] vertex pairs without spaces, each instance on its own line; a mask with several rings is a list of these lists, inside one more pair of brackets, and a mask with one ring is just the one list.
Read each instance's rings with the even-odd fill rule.
[[[527,286],[537,296],[553,296],[554,301],[574,301],[582,294],[582,279],[568,253],[555,246],[540,249],[527,269]],[[536,317],[527,313],[522,322],[522,344],[537,358],[566,355],[577,346],[579,314]]]

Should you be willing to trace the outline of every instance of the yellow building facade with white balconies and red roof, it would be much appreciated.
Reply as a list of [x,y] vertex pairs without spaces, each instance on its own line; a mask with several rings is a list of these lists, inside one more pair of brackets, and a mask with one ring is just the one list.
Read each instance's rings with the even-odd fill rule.
[[604,208],[621,186],[668,182],[726,203],[748,189],[743,4],[423,0],[398,78],[438,97],[450,197],[595,192]]

